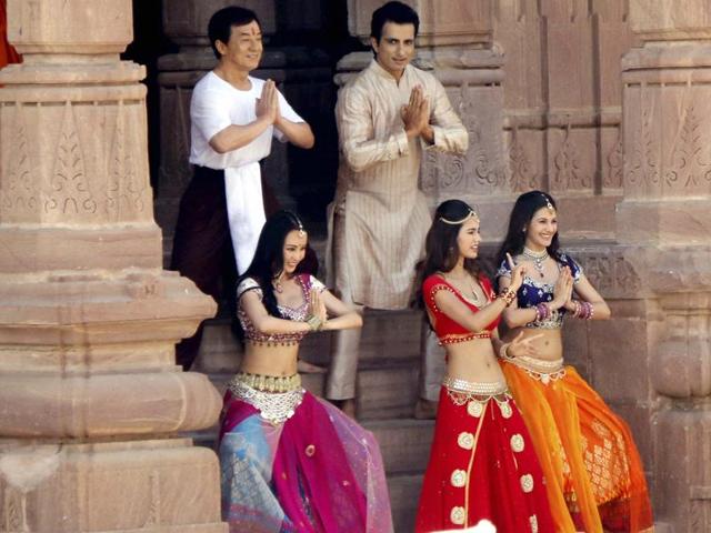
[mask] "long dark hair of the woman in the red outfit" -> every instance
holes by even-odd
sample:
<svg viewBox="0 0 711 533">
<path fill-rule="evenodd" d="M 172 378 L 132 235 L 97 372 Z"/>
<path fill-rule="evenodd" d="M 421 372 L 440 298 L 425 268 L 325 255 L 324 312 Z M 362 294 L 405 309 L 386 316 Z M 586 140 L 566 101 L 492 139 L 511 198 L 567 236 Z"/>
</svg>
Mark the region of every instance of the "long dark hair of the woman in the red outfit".
<svg viewBox="0 0 711 533">
<path fill-rule="evenodd" d="M 422 300 L 422 282 L 435 272 L 449 272 L 459 260 L 459 245 L 457 238 L 463 223 L 469 220 L 469 214 L 474 210 L 461 200 L 447 200 L 434 211 L 434 220 L 424 240 L 424 259 L 418 263 L 415 303 L 424 305 Z M 461 220 L 459 224 L 443 222 L 447 220 Z M 464 270 L 479 279 L 481 268 L 475 259 L 464 259 Z"/>
</svg>

